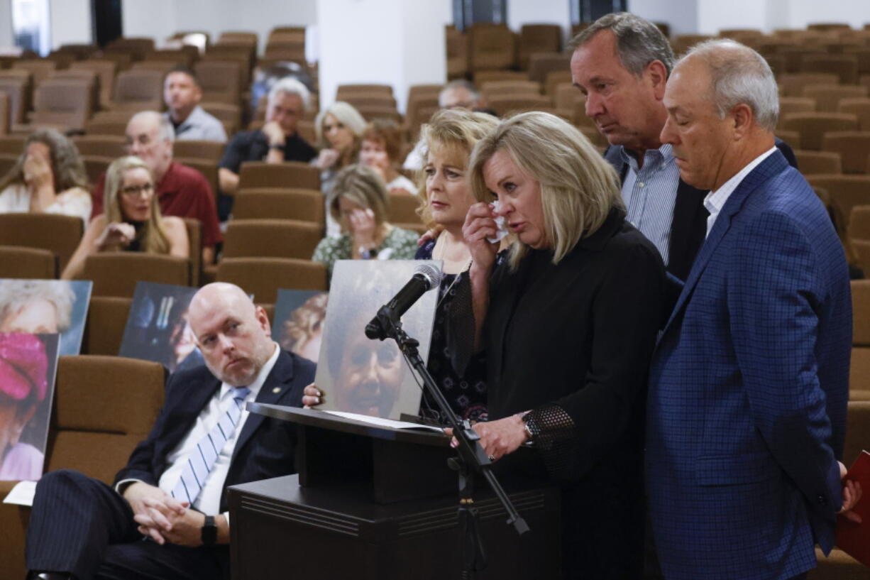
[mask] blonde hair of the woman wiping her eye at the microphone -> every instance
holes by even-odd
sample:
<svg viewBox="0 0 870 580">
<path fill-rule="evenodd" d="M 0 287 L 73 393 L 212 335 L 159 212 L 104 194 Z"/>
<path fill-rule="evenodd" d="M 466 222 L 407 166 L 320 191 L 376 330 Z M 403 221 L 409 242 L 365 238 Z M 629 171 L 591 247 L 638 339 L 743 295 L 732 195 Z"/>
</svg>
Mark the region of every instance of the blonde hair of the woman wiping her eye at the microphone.
<svg viewBox="0 0 870 580">
<path fill-rule="evenodd" d="M 507 152 L 521 172 L 539 182 L 544 233 L 553 251 L 553 264 L 559 264 L 580 238 L 595 233 L 613 207 L 624 207 L 616 171 L 583 133 L 555 115 L 521 113 L 502 121 L 478 141 L 469 162 L 469 179 L 478 201 L 493 199 L 483 172 L 486 161 L 499 151 Z M 527 250 L 519 239 L 512 241 L 512 270 Z"/>
</svg>

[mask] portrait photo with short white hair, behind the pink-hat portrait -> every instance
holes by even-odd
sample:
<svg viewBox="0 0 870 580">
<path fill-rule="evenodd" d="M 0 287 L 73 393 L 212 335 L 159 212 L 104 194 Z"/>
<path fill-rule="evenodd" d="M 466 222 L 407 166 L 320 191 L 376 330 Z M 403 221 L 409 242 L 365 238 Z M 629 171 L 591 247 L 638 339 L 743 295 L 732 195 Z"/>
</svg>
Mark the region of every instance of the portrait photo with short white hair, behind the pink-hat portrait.
<svg viewBox="0 0 870 580">
<path fill-rule="evenodd" d="M 0 333 L 60 334 L 60 354 L 78 354 L 90 280 L 0 280 Z"/>
</svg>

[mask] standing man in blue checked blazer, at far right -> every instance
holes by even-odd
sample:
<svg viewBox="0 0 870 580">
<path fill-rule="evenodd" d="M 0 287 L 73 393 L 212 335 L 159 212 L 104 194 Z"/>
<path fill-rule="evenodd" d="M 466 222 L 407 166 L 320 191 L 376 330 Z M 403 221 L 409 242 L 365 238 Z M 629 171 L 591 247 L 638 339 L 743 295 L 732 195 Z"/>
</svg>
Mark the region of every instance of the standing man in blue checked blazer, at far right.
<svg viewBox="0 0 870 580">
<path fill-rule="evenodd" d="M 770 67 L 732 41 L 674 68 L 661 133 L 709 190 L 706 241 L 659 341 L 647 486 L 668 580 L 786 580 L 826 553 L 840 487 L 852 310 L 825 208 L 773 145 Z M 851 516 L 851 514 L 850 514 Z"/>
</svg>

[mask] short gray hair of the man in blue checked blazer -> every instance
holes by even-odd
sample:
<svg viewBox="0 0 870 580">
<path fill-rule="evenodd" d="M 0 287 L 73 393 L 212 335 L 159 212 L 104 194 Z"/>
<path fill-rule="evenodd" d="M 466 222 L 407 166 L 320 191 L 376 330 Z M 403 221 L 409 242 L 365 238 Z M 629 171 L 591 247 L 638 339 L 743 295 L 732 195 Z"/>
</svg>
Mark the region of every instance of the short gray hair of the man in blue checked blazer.
<svg viewBox="0 0 870 580">
<path fill-rule="evenodd" d="M 719 118 L 735 106 L 748 105 L 756 125 L 769 132 L 780 116 L 780 94 L 770 65 L 758 52 L 733 40 L 715 39 L 695 44 L 678 65 L 698 57 L 710 71 L 713 105 Z"/>
</svg>

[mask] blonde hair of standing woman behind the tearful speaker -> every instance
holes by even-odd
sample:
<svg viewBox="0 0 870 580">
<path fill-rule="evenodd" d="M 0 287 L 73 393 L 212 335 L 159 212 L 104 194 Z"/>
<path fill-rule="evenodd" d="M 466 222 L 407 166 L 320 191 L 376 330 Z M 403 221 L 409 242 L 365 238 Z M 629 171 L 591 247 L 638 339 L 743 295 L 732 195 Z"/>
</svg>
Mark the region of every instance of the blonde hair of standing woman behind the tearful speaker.
<svg viewBox="0 0 870 580">
<path fill-rule="evenodd" d="M 499 126 L 499 119 L 486 113 L 465 111 L 464 109 L 442 109 L 437 111 L 429 122 L 420 128 L 420 142 L 423 144 L 423 165 L 432 151 L 441 151 L 452 156 L 452 162 L 465 170 L 474 145 L 487 133 Z M 426 193 L 425 173 L 418 176 L 418 194 L 421 205 L 417 208 L 420 219 L 427 229 L 438 224 L 432 218 L 429 198 Z"/>
</svg>

